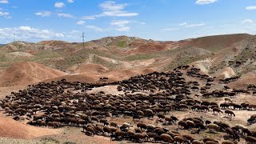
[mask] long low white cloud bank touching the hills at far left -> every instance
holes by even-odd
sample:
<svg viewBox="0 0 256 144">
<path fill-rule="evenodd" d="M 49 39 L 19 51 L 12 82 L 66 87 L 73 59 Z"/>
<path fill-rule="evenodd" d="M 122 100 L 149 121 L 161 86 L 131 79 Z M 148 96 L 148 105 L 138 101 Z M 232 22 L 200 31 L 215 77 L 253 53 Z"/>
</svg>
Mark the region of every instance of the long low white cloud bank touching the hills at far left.
<svg viewBox="0 0 256 144">
<path fill-rule="evenodd" d="M 0 41 L 11 42 L 13 34 L 16 34 L 18 41 L 34 42 L 65 37 L 64 34 L 52 30 L 40 30 L 30 26 L 0 28 Z"/>
</svg>

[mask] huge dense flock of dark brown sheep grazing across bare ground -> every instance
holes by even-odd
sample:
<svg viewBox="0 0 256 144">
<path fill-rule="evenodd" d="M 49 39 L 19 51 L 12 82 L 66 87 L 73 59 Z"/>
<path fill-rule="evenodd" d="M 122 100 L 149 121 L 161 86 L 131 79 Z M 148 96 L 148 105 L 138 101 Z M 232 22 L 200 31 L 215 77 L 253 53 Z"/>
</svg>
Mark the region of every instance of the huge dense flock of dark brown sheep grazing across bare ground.
<svg viewBox="0 0 256 144">
<path fill-rule="evenodd" d="M 186 76 L 200 78 L 199 82 L 186 82 Z M 101 78 L 107 81 L 108 78 Z M 230 82 L 238 78 L 225 80 Z M 127 80 L 110 83 L 40 82 L 28 86 L 25 90 L 12 92 L 0 101 L 5 114 L 15 120 L 25 117 L 32 126 L 81 126 L 88 135 L 106 135 L 111 140 L 130 142 L 176 142 L 193 144 L 214 144 L 216 139 L 203 137 L 195 139 L 194 134 L 226 133 L 228 140 L 223 144 L 240 142 L 256 142 L 256 131 L 236 124 L 230 126 L 226 122 L 206 118 L 182 118 L 173 115 L 173 111 L 192 111 L 192 113 L 210 113 L 216 117 L 234 118 L 234 110 L 256 110 L 250 102 L 235 103 L 234 97 L 239 94 L 255 94 L 256 86 L 249 85 L 247 90 L 231 90 L 224 86 L 223 90 L 210 91 L 214 78 L 200 74 L 200 69 L 190 66 L 178 66 L 170 72 L 154 72 L 138 75 Z M 118 86 L 124 94 L 88 94 L 89 90 L 101 86 Z M 201 84 L 202 85 L 202 84 Z M 200 101 L 199 98 L 222 98 L 224 102 Z M 132 118 L 136 123 L 124 122 L 118 125 L 114 118 Z M 147 118 L 159 125 L 140 122 Z M 111 120 L 112 119 L 112 120 Z M 247 120 L 248 125 L 256 122 L 256 114 Z M 166 126 L 177 126 L 174 130 Z M 182 134 L 179 130 L 187 133 Z"/>
</svg>

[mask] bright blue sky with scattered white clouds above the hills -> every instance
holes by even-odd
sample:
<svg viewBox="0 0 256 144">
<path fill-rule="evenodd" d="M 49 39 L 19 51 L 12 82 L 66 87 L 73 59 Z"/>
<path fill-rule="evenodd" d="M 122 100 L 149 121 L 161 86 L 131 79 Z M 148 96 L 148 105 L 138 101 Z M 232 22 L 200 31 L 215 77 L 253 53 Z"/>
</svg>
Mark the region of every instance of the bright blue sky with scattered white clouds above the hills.
<svg viewBox="0 0 256 144">
<path fill-rule="evenodd" d="M 256 34 L 255 0 L 0 0 L 0 43 Z"/>
</svg>

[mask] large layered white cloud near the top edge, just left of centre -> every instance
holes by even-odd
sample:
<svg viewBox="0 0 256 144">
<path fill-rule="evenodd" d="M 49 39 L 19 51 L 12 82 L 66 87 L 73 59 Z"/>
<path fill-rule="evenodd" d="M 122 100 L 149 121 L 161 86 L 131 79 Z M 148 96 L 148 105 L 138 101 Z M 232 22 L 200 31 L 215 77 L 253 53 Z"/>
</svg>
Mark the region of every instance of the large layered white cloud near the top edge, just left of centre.
<svg viewBox="0 0 256 144">
<path fill-rule="evenodd" d="M 116 4 L 113 1 L 102 2 L 99 5 L 102 8 L 102 14 L 96 14 L 91 16 L 82 17 L 82 19 L 90 18 L 95 19 L 99 17 L 134 17 L 138 13 L 130 13 L 125 11 L 127 4 Z"/>
</svg>

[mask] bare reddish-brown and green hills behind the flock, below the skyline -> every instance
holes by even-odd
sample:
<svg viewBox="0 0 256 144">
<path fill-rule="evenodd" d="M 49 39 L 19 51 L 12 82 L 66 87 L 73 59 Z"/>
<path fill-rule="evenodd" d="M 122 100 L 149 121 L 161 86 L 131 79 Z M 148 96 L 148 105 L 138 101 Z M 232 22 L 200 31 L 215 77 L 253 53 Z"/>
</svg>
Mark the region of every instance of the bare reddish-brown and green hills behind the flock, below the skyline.
<svg viewBox="0 0 256 144">
<path fill-rule="evenodd" d="M 17 62 L 39 63 L 65 72 L 69 78 L 94 80 L 110 75 L 119 80 L 146 71 L 173 70 L 180 65 L 197 66 L 218 78 L 256 73 L 256 37 L 250 34 L 178 42 L 119 36 L 86 42 L 85 47 L 62 41 L 12 42 L 1 49 L 0 74 Z"/>
</svg>

